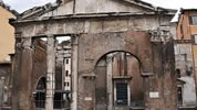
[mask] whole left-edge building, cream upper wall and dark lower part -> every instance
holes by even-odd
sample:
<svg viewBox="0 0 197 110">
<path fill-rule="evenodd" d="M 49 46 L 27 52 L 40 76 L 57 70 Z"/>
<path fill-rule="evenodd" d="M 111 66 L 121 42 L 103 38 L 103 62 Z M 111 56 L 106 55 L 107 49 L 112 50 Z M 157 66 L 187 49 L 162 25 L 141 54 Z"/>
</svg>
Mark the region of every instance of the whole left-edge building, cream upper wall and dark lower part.
<svg viewBox="0 0 197 110">
<path fill-rule="evenodd" d="M 11 68 L 14 53 L 14 28 L 9 19 L 15 19 L 15 12 L 0 1 L 0 109 L 9 108 L 11 100 Z"/>
</svg>

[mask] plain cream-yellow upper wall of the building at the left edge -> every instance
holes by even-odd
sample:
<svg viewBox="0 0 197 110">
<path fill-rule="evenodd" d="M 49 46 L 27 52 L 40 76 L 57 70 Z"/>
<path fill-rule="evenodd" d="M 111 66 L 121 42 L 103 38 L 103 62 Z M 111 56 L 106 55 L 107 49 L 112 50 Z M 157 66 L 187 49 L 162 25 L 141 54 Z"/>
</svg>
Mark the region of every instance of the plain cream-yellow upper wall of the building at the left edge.
<svg viewBox="0 0 197 110">
<path fill-rule="evenodd" d="M 9 54 L 14 53 L 14 28 L 9 24 L 9 19 L 14 19 L 15 14 L 6 6 L 0 2 L 0 62 L 10 62 Z"/>
</svg>

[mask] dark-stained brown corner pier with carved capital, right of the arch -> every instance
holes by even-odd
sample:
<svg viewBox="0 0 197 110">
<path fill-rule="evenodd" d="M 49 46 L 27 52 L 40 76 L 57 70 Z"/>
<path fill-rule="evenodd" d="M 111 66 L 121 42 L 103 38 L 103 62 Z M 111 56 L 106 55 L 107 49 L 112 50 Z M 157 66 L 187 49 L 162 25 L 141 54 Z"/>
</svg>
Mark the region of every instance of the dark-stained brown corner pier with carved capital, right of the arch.
<svg viewBox="0 0 197 110">
<path fill-rule="evenodd" d="M 147 110 L 177 110 L 174 43 L 168 30 L 158 29 L 152 33 L 153 69 L 149 77 Z"/>
</svg>

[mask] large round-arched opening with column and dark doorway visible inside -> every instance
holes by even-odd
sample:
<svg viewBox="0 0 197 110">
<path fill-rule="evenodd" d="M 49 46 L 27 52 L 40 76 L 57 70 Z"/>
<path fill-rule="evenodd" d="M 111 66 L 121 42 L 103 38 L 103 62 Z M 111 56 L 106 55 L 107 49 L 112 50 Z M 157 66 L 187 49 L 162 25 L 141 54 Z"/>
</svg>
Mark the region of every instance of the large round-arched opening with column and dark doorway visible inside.
<svg viewBox="0 0 197 110">
<path fill-rule="evenodd" d="M 96 110 L 143 108 L 141 62 L 127 52 L 111 52 L 96 66 Z"/>
</svg>

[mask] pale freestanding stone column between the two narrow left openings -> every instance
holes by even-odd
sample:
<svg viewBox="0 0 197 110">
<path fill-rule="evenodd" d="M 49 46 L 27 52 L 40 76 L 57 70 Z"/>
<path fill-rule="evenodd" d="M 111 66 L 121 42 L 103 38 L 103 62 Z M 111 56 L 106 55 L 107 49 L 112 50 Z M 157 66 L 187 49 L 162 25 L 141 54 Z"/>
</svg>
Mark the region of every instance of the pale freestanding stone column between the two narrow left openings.
<svg viewBox="0 0 197 110">
<path fill-rule="evenodd" d="M 45 110 L 53 110 L 53 95 L 54 95 L 54 69 L 55 69 L 55 50 L 54 37 L 48 36 L 46 46 L 46 96 L 45 96 Z"/>
</svg>

